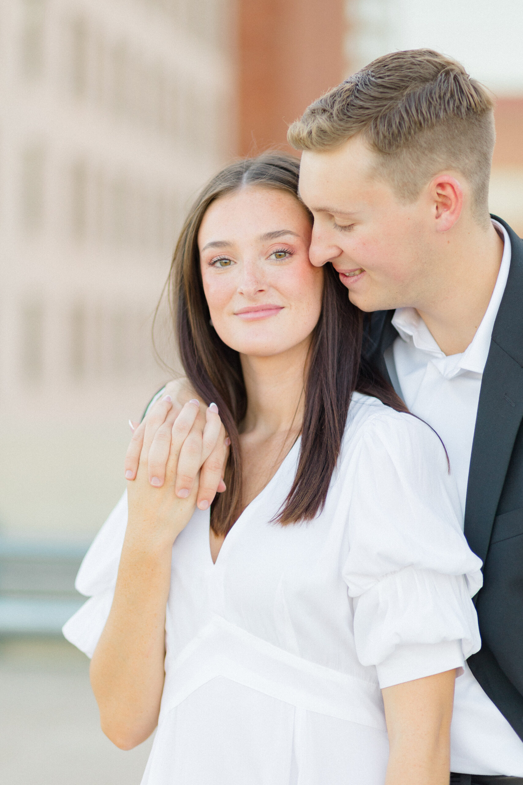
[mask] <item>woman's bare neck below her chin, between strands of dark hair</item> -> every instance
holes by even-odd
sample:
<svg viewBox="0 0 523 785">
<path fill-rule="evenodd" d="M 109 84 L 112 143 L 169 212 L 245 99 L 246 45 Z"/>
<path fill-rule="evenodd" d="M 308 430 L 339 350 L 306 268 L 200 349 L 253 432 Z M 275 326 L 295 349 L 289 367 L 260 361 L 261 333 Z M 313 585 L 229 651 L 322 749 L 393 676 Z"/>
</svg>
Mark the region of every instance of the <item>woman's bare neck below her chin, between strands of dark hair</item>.
<svg viewBox="0 0 523 785">
<path fill-rule="evenodd" d="M 271 438 L 297 431 L 303 422 L 305 367 L 311 341 L 271 357 L 241 356 L 247 413 L 242 433 Z"/>
</svg>

